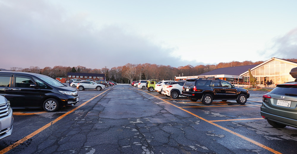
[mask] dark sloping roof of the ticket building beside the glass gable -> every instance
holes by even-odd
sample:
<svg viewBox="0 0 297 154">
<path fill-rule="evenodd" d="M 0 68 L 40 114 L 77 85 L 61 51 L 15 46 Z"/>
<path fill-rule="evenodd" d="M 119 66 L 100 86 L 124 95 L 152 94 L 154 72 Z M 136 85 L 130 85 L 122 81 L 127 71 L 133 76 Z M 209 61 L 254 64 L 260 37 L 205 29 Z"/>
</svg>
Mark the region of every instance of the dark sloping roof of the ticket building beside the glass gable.
<svg viewBox="0 0 297 154">
<path fill-rule="evenodd" d="M 252 69 L 260 64 L 254 64 L 254 65 L 244 65 L 244 66 L 234 66 L 234 67 L 228 67 L 228 68 L 218 68 L 206 73 L 202 73 L 199 76 L 209 76 L 209 75 L 234 75 L 239 76 L 240 74 L 248 71 L 249 69 Z"/>
</svg>

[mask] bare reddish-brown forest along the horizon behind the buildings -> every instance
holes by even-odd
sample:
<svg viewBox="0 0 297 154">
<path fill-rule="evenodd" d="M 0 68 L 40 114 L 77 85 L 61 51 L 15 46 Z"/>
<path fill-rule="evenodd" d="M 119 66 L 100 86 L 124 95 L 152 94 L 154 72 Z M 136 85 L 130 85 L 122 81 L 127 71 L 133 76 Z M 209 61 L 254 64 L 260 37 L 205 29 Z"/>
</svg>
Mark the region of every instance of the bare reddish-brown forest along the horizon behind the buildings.
<svg viewBox="0 0 297 154">
<path fill-rule="evenodd" d="M 297 62 L 297 59 L 284 59 L 288 61 Z M 254 65 L 261 64 L 264 61 L 232 61 L 232 62 L 220 62 L 217 65 L 186 65 L 178 68 L 170 65 L 157 65 L 157 64 L 126 64 L 124 66 L 118 66 L 113 68 L 101 68 L 91 69 L 84 66 L 67 67 L 67 66 L 55 66 L 39 68 L 38 66 L 31 66 L 30 68 L 10 68 L 11 71 L 31 72 L 50 76 L 52 78 L 66 78 L 68 72 L 80 72 L 80 73 L 100 73 L 106 74 L 106 80 L 113 80 L 117 83 L 131 83 L 135 80 L 174 80 L 174 76 L 197 76 L 202 73 L 215 70 L 217 68 Z"/>
</svg>

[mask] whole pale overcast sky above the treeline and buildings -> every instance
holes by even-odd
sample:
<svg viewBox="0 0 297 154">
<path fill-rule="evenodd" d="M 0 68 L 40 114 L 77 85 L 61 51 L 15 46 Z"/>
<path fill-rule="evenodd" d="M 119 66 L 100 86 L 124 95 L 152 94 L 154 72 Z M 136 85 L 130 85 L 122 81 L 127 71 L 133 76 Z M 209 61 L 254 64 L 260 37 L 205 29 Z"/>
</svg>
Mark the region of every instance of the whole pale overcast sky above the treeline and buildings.
<svg viewBox="0 0 297 154">
<path fill-rule="evenodd" d="M 297 58 L 296 6 L 296 0 L 0 0 L 0 68 Z"/>
</svg>

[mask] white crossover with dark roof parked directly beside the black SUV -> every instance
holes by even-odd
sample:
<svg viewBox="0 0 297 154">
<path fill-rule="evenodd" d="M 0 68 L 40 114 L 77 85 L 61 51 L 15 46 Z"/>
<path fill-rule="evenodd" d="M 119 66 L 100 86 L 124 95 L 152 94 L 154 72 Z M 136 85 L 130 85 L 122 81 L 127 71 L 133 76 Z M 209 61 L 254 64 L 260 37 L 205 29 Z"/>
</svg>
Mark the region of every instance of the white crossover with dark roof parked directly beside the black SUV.
<svg viewBox="0 0 297 154">
<path fill-rule="evenodd" d="M 185 83 L 184 81 L 183 82 L 168 82 L 168 84 L 163 85 L 161 94 L 163 94 L 167 97 L 176 99 L 181 94 L 181 91 L 183 90 L 184 83 Z"/>
</svg>

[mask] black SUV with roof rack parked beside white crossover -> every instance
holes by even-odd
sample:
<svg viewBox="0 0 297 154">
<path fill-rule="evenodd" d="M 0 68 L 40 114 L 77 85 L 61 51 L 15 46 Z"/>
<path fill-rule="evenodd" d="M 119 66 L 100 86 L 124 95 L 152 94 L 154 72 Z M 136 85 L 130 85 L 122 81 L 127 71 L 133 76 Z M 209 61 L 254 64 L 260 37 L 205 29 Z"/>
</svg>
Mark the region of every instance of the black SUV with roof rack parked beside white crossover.
<svg viewBox="0 0 297 154">
<path fill-rule="evenodd" d="M 204 105 L 211 105 L 213 100 L 236 100 L 238 104 L 245 104 L 249 98 L 248 90 L 235 88 L 228 81 L 217 78 L 187 79 L 182 95 L 192 102 L 200 100 Z"/>
</svg>

